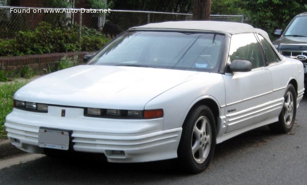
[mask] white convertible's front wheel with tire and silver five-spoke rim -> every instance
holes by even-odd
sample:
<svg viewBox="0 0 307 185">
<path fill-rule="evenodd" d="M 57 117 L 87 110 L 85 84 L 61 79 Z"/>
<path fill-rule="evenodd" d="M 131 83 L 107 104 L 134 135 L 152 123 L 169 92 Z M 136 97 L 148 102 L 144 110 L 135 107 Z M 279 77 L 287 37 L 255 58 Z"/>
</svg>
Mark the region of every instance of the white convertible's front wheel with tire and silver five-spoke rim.
<svg viewBox="0 0 307 185">
<path fill-rule="evenodd" d="M 210 108 L 205 105 L 192 108 L 182 129 L 178 165 L 185 172 L 201 173 L 208 167 L 216 145 L 215 120 Z"/>
</svg>

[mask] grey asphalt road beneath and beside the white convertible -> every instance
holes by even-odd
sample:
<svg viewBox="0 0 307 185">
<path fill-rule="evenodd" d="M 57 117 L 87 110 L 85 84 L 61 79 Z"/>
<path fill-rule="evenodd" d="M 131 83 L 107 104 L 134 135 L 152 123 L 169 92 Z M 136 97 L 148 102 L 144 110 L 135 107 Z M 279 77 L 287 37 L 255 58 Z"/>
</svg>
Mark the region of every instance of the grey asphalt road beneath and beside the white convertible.
<svg viewBox="0 0 307 185">
<path fill-rule="evenodd" d="M 307 184 L 306 112 L 304 98 L 289 134 L 261 127 L 217 145 L 211 165 L 197 175 L 180 173 L 172 160 L 109 164 L 97 156 L 42 156 L 23 163 L 21 156 L 0 168 L 0 184 Z"/>
</svg>

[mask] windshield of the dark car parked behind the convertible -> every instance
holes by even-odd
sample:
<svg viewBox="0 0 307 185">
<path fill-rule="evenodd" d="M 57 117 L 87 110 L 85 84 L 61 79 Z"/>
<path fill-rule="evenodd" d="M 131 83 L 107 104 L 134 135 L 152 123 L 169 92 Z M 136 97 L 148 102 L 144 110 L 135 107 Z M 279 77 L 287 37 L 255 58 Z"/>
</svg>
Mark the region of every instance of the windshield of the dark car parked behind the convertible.
<svg viewBox="0 0 307 185">
<path fill-rule="evenodd" d="M 285 31 L 284 36 L 307 37 L 307 16 L 297 16 Z"/>
</svg>

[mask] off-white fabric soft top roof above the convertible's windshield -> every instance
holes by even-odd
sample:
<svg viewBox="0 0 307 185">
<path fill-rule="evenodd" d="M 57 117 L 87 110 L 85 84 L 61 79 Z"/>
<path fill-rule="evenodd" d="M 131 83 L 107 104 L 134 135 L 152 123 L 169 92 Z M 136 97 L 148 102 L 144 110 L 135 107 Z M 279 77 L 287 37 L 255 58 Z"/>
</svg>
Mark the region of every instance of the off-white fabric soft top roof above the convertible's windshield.
<svg viewBox="0 0 307 185">
<path fill-rule="evenodd" d="M 229 34 L 238 33 L 258 33 L 251 25 L 238 22 L 224 21 L 169 21 L 151 23 L 144 26 L 134 27 L 133 29 L 175 29 L 175 30 L 200 30 L 217 31 Z"/>
</svg>

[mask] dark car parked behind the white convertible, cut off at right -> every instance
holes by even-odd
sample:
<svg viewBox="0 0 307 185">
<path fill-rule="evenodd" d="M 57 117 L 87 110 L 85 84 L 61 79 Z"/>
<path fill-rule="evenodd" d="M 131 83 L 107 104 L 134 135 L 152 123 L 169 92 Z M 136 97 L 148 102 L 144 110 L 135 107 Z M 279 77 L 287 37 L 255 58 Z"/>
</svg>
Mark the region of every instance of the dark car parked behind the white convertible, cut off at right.
<svg viewBox="0 0 307 185">
<path fill-rule="evenodd" d="M 273 41 L 274 47 L 286 57 L 300 60 L 304 64 L 305 81 L 307 80 L 307 12 L 295 16 L 286 30 L 275 30 L 280 38 Z M 305 83 L 306 84 L 306 83 Z"/>
</svg>

